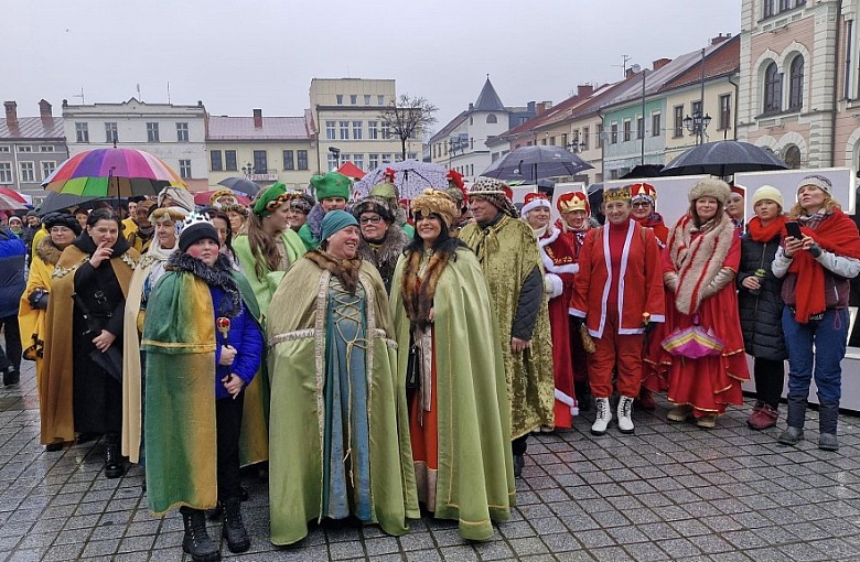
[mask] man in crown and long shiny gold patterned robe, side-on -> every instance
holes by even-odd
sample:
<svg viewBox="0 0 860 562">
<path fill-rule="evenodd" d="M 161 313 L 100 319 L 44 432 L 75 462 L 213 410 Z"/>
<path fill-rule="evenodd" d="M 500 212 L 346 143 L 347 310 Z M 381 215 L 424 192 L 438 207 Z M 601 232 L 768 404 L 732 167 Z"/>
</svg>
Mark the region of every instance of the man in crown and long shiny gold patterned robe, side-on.
<svg viewBox="0 0 860 562">
<path fill-rule="evenodd" d="M 510 398 L 514 474 L 525 465 L 528 434 L 553 426 L 555 379 L 540 252 L 531 227 L 518 220 L 510 188 L 479 177 L 469 192 L 475 221 L 460 239 L 477 255 L 498 316 Z"/>
</svg>

